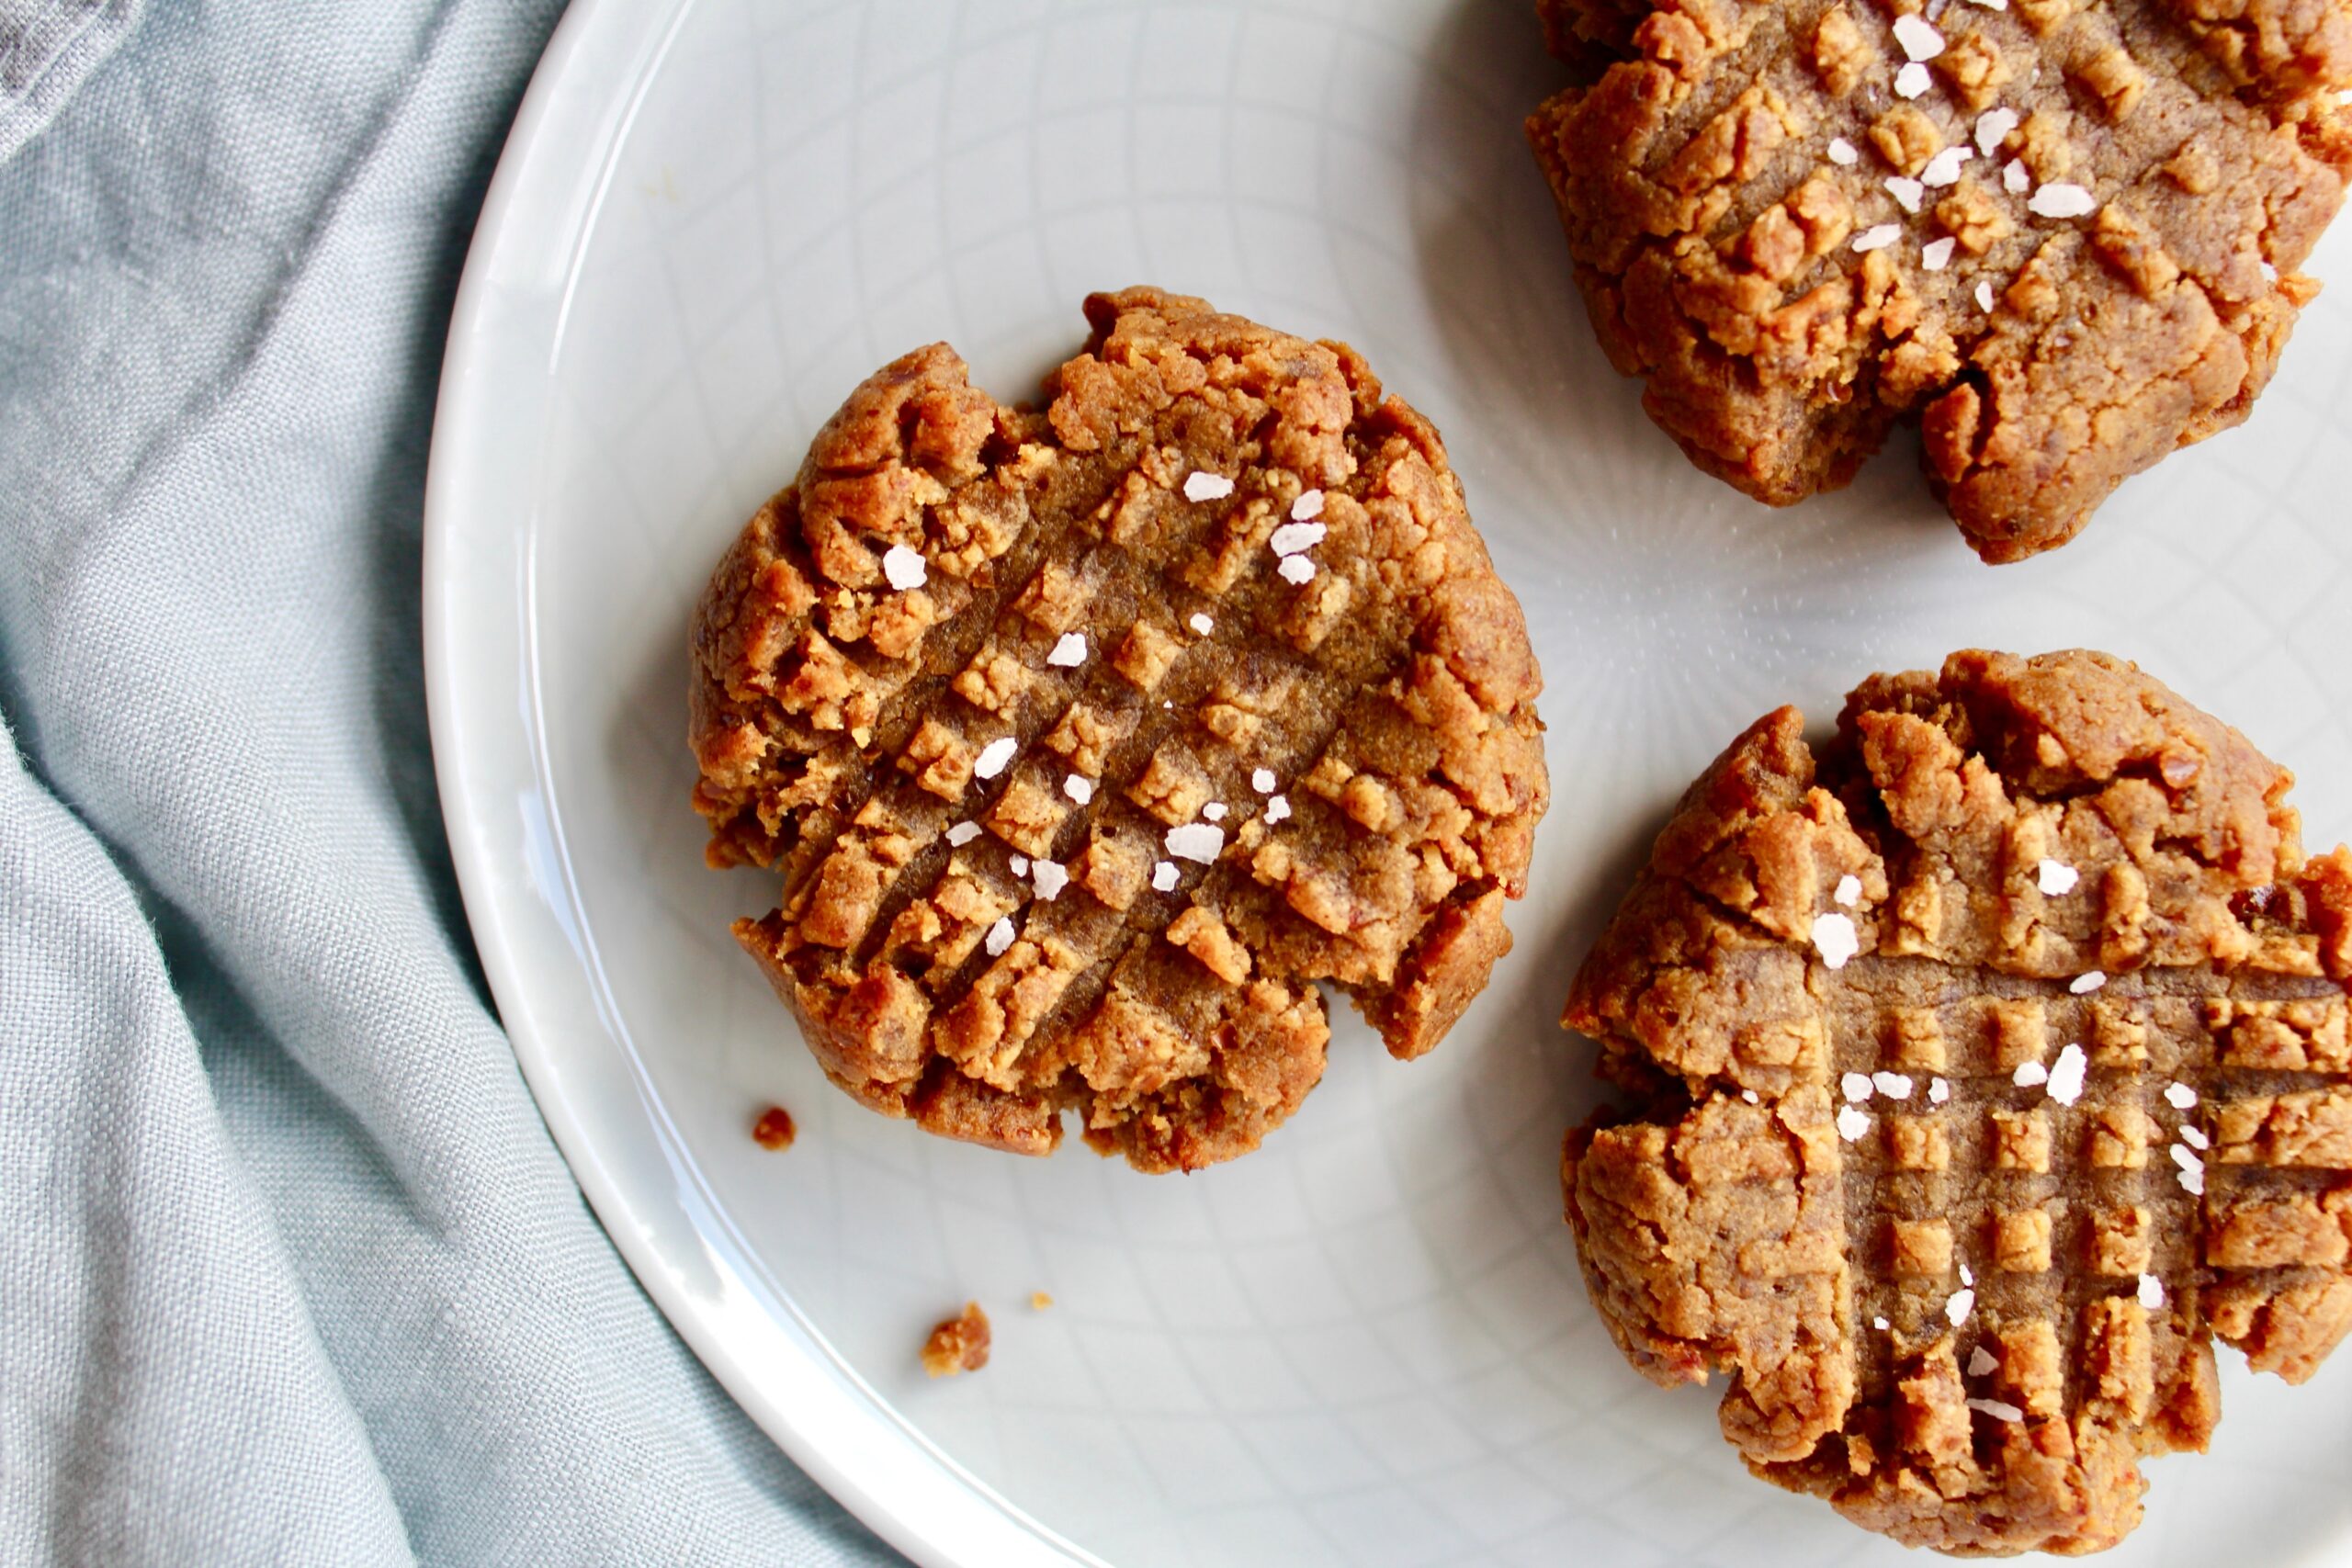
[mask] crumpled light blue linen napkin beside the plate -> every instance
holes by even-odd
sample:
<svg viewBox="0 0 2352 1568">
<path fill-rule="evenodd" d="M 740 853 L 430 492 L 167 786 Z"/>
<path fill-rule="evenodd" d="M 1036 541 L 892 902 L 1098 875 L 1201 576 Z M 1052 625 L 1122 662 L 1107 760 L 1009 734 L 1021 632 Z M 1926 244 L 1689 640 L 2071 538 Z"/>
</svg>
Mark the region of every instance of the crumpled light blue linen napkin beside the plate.
<svg viewBox="0 0 2352 1568">
<path fill-rule="evenodd" d="M 894 1561 L 555 1154 L 433 792 L 550 0 L 0 0 L 0 1563 Z"/>
</svg>

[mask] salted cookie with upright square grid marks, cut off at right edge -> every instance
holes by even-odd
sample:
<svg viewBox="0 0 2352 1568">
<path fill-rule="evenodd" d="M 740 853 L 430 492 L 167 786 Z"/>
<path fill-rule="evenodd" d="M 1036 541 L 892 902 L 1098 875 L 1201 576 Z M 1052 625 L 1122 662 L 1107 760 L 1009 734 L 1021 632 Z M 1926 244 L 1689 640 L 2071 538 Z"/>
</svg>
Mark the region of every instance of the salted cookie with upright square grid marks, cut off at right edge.
<svg viewBox="0 0 2352 1568">
<path fill-rule="evenodd" d="M 1872 675 L 1691 785 L 1564 1023 L 1585 1281 L 1748 1467 L 1905 1544 L 2096 1552 L 2204 1448 L 2211 1340 L 2352 1324 L 2352 853 L 2103 654 Z"/>
</svg>

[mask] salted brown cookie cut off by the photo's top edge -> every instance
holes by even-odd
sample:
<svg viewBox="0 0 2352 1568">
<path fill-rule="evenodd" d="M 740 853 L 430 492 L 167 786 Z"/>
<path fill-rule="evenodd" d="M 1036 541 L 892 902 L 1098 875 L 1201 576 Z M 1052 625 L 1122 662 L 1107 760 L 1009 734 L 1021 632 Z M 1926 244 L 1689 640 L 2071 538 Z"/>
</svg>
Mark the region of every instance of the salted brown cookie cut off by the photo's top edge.
<svg viewBox="0 0 2352 1568">
<path fill-rule="evenodd" d="M 1602 348 L 1788 505 L 1917 421 L 1987 562 L 2225 430 L 2319 284 L 2352 0 L 1538 0 Z"/>
</svg>

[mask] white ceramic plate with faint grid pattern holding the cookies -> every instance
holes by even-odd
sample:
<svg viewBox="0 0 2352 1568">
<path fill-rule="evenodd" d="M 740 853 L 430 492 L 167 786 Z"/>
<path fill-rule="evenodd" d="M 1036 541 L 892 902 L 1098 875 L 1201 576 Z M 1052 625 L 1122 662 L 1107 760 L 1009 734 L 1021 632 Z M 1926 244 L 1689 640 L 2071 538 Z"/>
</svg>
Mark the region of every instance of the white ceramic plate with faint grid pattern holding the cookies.
<svg viewBox="0 0 2352 1568">
<path fill-rule="evenodd" d="M 499 167 L 449 339 L 426 616 L 456 863 L 515 1051 L 647 1291 L 924 1563 L 1893 1563 L 1750 1481 L 1715 1394 L 1611 1349 L 1559 1222 L 1569 971 L 1663 809 L 1778 701 L 1947 649 L 2129 654 L 2352 835 L 2352 289 L 2239 433 L 2079 543 L 1980 567 L 1898 449 L 1769 512 L 1642 418 L 1571 296 L 1519 118 L 1522 0 L 588 0 Z M 2340 233 L 2321 275 L 2352 275 Z M 1143 1178 L 882 1121 L 823 1084 L 701 865 L 684 628 L 873 367 L 950 339 L 1000 395 L 1157 282 L 1345 336 L 1446 433 L 1529 609 L 1552 813 L 1517 952 L 1446 1046 L 1331 1072 L 1263 1152 Z M 2333 520 L 2333 522 L 2331 522 Z M 790 1154 L 748 1138 L 783 1100 Z M 1049 1291 L 1049 1312 L 1028 1307 Z M 922 1333 L 997 1321 L 974 1378 Z M 2352 1356 L 2225 1356 L 2204 1460 L 2114 1563 L 2343 1561 Z"/>
</svg>

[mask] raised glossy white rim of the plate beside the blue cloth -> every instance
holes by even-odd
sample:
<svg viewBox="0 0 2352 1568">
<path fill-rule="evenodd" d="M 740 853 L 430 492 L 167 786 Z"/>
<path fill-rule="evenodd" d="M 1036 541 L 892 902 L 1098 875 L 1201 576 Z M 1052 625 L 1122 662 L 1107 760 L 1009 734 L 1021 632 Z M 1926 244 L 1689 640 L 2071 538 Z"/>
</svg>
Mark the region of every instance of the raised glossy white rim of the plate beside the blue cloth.
<svg viewBox="0 0 2352 1568">
<path fill-rule="evenodd" d="M 628 1046 L 626 1032 L 614 1025 L 616 1013 L 609 1006 L 609 994 L 597 983 L 593 957 L 583 954 L 579 947 L 588 940 L 583 936 L 586 912 L 579 905 L 572 865 L 562 851 L 560 797 L 553 790 L 553 780 L 546 769 L 543 733 L 534 712 L 539 696 L 539 649 L 532 599 L 536 512 L 524 510 L 520 520 L 510 522 L 506 534 L 499 536 L 499 543 L 522 545 L 520 555 L 510 557 L 517 567 L 513 576 L 501 578 L 501 574 L 494 571 L 485 574 L 485 569 L 468 557 L 468 545 L 480 543 L 480 538 L 468 538 L 468 527 L 475 524 L 475 508 L 468 505 L 468 496 L 482 484 L 482 463 L 494 461 L 477 451 L 477 421 L 485 416 L 485 402 L 489 402 L 496 390 L 503 390 L 494 348 L 501 343 L 501 336 L 513 334 L 510 327 L 501 327 L 496 320 L 501 303 L 499 266 L 506 254 L 517 247 L 517 209 L 532 195 L 529 183 L 534 176 L 546 176 L 546 162 L 562 158 L 562 150 L 553 143 L 560 136 L 557 120 L 562 110 L 574 108 L 574 103 L 567 103 L 567 94 L 581 92 L 574 80 L 576 73 L 588 71 L 590 63 L 602 63 L 590 61 L 590 52 L 609 45 L 612 35 L 630 21 L 640 24 L 640 35 L 659 33 L 661 42 L 652 49 L 652 54 L 644 56 L 640 49 L 640 56 L 630 61 L 630 75 L 619 78 L 619 92 L 607 94 L 602 85 L 593 85 L 581 92 L 586 101 L 619 96 L 628 99 L 628 106 L 616 125 L 602 127 L 604 134 L 586 155 L 576 155 L 576 172 L 588 174 L 595 183 L 595 195 L 588 200 L 586 212 L 579 214 L 576 228 L 572 233 L 560 233 L 553 240 L 541 240 L 541 249 L 569 247 L 569 261 L 564 263 L 562 277 L 564 308 L 557 310 L 555 331 L 548 341 L 548 346 L 560 350 L 569 324 L 569 287 L 576 280 L 586 240 L 593 235 L 597 212 L 602 209 L 602 193 L 612 181 L 612 169 L 621 146 L 626 143 L 630 122 L 635 120 L 635 103 L 659 73 L 668 42 L 675 40 L 699 2 L 701 0 L 654 0 L 654 5 L 644 5 L 642 0 L 574 0 L 567 7 L 564 16 L 548 38 L 539 63 L 532 68 L 529 85 L 524 87 L 515 118 L 499 148 L 499 160 L 489 186 L 485 188 L 473 237 L 466 247 L 466 263 L 459 275 L 449 313 L 449 331 L 442 343 L 440 386 L 433 400 L 433 435 L 426 454 L 421 562 L 426 724 L 433 745 L 435 792 L 442 809 L 442 825 L 449 837 L 459 898 L 466 910 L 466 924 L 470 929 L 475 952 L 482 961 L 485 980 L 499 1009 L 501 1030 L 515 1051 L 515 1063 L 522 1072 L 524 1086 L 532 1093 L 532 1103 L 536 1105 L 548 1135 L 555 1140 L 555 1150 L 562 1157 L 564 1168 L 579 1185 L 581 1197 L 588 1199 L 597 1225 L 628 1265 L 637 1288 L 642 1288 L 652 1305 L 661 1312 L 670 1333 L 675 1333 L 687 1349 L 694 1352 L 696 1361 L 703 1363 L 710 1378 L 717 1380 L 724 1394 L 762 1429 L 762 1434 L 863 1526 L 924 1568 L 995 1568 L 997 1563 L 1108 1568 L 1103 1559 L 1077 1547 L 1075 1542 L 1068 1542 L 1051 1526 L 1030 1516 L 1016 1502 L 946 1455 L 936 1443 L 927 1441 L 906 1420 L 906 1415 L 891 1406 L 891 1401 L 875 1392 L 837 1356 L 837 1352 L 833 1352 L 830 1342 L 826 1342 L 814 1324 L 800 1314 L 800 1307 L 790 1302 L 781 1286 L 762 1281 L 762 1272 L 753 1272 L 750 1276 L 739 1276 L 736 1284 L 750 1288 L 753 1293 L 760 1293 L 762 1284 L 774 1291 L 779 1298 L 774 1305 L 783 1307 L 790 1319 L 788 1324 L 779 1321 L 776 1328 L 786 1331 L 788 1338 L 797 1342 L 795 1349 L 804 1359 L 807 1371 L 818 1373 L 818 1378 L 830 1385 L 830 1392 L 840 1394 L 835 1408 L 823 1418 L 795 1410 L 779 1401 L 774 1389 L 764 1385 L 748 1359 L 739 1354 L 739 1347 L 729 1340 L 727 1326 L 713 1302 L 696 1298 L 682 1286 L 673 1269 L 663 1267 L 666 1260 L 661 1255 L 661 1241 L 644 1222 L 640 1197 L 633 1194 L 604 1161 L 597 1133 L 588 1124 L 588 1107 L 583 1107 L 564 1084 L 564 1046 L 553 1041 L 539 1027 L 534 985 L 541 985 L 543 980 L 527 978 L 532 973 L 532 964 L 520 952 L 520 929 L 527 922 L 550 922 L 557 926 L 555 936 L 572 945 L 574 954 L 583 961 L 590 1001 L 607 1020 L 604 1044 L 616 1048 L 623 1058 L 640 1100 L 659 1103 L 649 1093 L 642 1063 Z M 593 82 L 595 78 L 588 80 Z M 548 369 L 553 369 L 553 360 Z M 555 381 L 546 378 L 546 386 L 555 386 Z M 524 451 L 524 458 L 534 456 L 529 442 L 517 449 Z M 513 748 L 520 750 L 520 759 L 527 764 L 522 776 L 532 785 L 532 804 L 541 811 L 541 827 L 550 835 L 553 867 L 562 877 L 562 898 L 569 905 L 574 922 L 572 929 L 562 929 L 564 912 L 555 907 L 553 893 L 546 886 L 536 886 L 543 905 L 541 910 L 517 907 L 515 891 L 520 889 L 508 886 L 515 879 L 501 875 L 510 867 L 501 865 L 492 818 L 475 799 L 480 773 L 485 769 L 496 771 L 501 764 L 513 762 L 487 759 L 485 750 L 489 741 L 477 738 L 475 729 L 482 717 L 489 717 L 480 715 L 477 708 L 506 701 L 508 689 L 496 684 L 496 696 L 489 696 L 492 682 L 482 682 L 480 668 L 466 658 L 470 651 L 477 651 L 470 646 L 470 639 L 482 637 L 480 628 L 468 628 L 466 609 L 477 607 L 482 595 L 501 588 L 508 592 L 520 590 L 510 599 L 515 616 L 513 625 L 501 623 L 496 632 L 492 632 L 510 635 L 515 651 L 522 656 L 520 672 L 522 696 L 527 701 L 527 722 L 513 726 Z M 682 635 L 680 646 L 684 646 Z M 508 712 L 508 717 L 513 715 Z M 508 844 L 517 842 L 520 839 L 508 839 Z M 513 856 L 513 849 L 508 849 L 508 856 Z M 529 870 L 524 870 L 524 879 L 527 877 Z M 541 936 L 546 936 L 546 931 L 541 931 Z M 581 1046 L 574 1044 L 569 1048 L 579 1051 Z M 663 1133 L 663 1117 L 647 1112 L 644 1121 L 654 1133 L 659 1152 L 670 1154 L 673 1168 L 682 1173 L 682 1192 L 684 1175 L 696 1173 L 684 1138 Z M 722 1213 L 708 1185 L 696 1185 L 710 1211 Z M 694 1237 L 706 1246 L 706 1251 L 715 1244 L 724 1244 L 724 1237 L 713 1237 L 710 1227 L 701 1222 L 694 1225 Z M 724 1260 L 706 1258 L 706 1262 Z M 769 1314 L 771 1321 L 776 1319 L 769 1305 L 757 1305 L 757 1309 Z M 828 1427 L 828 1422 L 842 1415 L 844 1406 L 870 1418 L 870 1429 L 840 1432 Z M 880 1443 L 873 1441 L 877 1436 L 882 1439 Z"/>
</svg>

